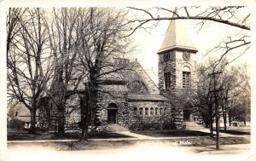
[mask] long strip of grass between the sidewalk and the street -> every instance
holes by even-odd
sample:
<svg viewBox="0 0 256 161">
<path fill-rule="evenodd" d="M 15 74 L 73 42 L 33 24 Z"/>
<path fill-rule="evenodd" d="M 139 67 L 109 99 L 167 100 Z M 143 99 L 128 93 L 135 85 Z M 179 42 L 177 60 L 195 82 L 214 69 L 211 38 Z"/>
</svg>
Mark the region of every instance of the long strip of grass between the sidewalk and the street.
<svg viewBox="0 0 256 161">
<path fill-rule="evenodd" d="M 180 146 L 180 147 L 206 147 L 214 146 L 215 139 L 210 137 L 198 138 L 175 138 L 165 140 L 126 140 L 126 141 L 65 141 L 65 142 L 32 142 L 32 143 L 8 143 L 8 148 L 15 147 L 44 147 L 52 148 L 56 151 L 70 151 L 70 150 L 106 150 L 115 148 L 124 148 L 137 146 L 139 144 L 157 145 L 162 144 L 166 146 Z M 219 139 L 220 145 L 234 145 L 234 144 L 248 144 L 249 137 L 225 137 Z"/>
</svg>

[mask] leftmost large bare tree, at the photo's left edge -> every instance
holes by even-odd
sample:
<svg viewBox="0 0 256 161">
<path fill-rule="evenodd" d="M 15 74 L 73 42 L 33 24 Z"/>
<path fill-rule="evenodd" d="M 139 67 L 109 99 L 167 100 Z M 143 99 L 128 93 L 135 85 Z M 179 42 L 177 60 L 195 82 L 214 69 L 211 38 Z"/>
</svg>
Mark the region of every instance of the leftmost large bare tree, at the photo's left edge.
<svg viewBox="0 0 256 161">
<path fill-rule="evenodd" d="M 8 24 L 15 25 L 8 25 L 8 95 L 29 109 L 32 129 L 44 96 L 43 82 L 48 81 L 50 71 L 47 67 L 48 36 L 41 15 L 41 9 L 9 9 L 9 16 L 15 16 L 15 20 L 9 19 Z M 40 71 L 43 64 L 46 66 L 44 73 Z"/>
</svg>

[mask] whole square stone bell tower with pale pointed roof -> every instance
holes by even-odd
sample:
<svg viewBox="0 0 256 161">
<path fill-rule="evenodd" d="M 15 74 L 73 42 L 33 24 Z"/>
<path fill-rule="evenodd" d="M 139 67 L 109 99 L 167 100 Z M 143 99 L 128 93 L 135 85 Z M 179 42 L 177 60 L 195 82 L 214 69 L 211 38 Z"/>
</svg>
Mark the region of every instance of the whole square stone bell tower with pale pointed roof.
<svg viewBox="0 0 256 161">
<path fill-rule="evenodd" d="M 193 119 L 183 113 L 189 104 L 191 89 L 196 89 L 197 49 L 183 27 L 182 20 L 171 20 L 164 41 L 158 50 L 160 95 L 171 100 L 172 113 L 177 118 L 177 126 L 186 119 Z"/>
</svg>

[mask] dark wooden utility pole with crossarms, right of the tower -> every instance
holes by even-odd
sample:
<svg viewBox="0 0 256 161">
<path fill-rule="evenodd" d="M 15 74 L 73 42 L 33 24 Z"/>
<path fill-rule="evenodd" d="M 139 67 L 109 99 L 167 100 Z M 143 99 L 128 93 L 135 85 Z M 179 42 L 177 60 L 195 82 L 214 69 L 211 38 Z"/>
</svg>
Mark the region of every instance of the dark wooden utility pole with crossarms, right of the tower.
<svg viewBox="0 0 256 161">
<path fill-rule="evenodd" d="M 214 107 L 215 107 L 215 130 L 216 130 L 216 150 L 219 150 L 219 116 L 218 116 L 218 92 L 223 89 L 217 89 L 217 81 L 216 81 L 216 75 L 221 74 L 222 72 L 213 72 L 211 74 L 208 74 L 210 76 L 210 82 L 213 79 L 213 90 L 211 92 L 213 93 L 214 97 Z"/>
</svg>

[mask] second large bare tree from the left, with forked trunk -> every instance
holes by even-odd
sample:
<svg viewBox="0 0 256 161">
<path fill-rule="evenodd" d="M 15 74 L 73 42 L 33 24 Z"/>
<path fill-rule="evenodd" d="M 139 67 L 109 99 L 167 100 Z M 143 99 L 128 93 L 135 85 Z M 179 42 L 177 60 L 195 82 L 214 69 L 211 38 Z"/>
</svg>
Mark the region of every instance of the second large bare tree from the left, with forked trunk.
<svg viewBox="0 0 256 161">
<path fill-rule="evenodd" d="M 53 102 L 58 113 L 58 134 L 65 129 L 67 99 L 75 94 L 81 75 L 74 68 L 77 66 L 79 53 L 79 9 L 50 9 L 44 16 L 49 36 L 49 48 L 53 66 L 53 78 L 44 82 L 44 91 Z M 40 69 L 44 71 L 44 67 Z"/>
</svg>

